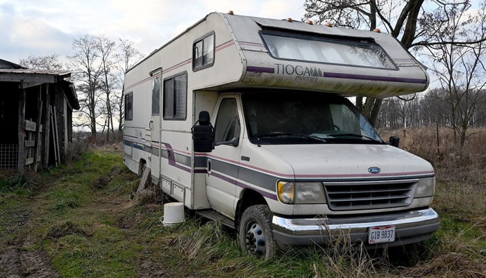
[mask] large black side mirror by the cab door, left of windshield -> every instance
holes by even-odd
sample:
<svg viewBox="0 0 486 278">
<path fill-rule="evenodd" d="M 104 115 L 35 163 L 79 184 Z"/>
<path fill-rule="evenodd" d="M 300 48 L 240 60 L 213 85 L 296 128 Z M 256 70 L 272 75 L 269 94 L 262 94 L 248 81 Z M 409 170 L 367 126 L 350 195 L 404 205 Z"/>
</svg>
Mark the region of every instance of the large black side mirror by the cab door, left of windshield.
<svg viewBox="0 0 486 278">
<path fill-rule="evenodd" d="M 208 111 L 199 113 L 199 120 L 191 131 L 194 152 L 212 152 L 215 149 L 215 129 L 210 123 Z"/>
</svg>

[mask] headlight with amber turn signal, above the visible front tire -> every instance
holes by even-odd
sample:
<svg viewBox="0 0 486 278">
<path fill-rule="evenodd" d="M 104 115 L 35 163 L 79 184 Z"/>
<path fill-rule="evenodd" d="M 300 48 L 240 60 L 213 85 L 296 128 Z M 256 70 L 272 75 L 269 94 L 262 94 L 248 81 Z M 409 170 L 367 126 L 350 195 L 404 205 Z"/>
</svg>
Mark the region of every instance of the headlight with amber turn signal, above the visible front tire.
<svg viewBox="0 0 486 278">
<path fill-rule="evenodd" d="M 284 204 L 324 204 L 324 186 L 320 182 L 278 181 L 278 199 Z"/>
</svg>

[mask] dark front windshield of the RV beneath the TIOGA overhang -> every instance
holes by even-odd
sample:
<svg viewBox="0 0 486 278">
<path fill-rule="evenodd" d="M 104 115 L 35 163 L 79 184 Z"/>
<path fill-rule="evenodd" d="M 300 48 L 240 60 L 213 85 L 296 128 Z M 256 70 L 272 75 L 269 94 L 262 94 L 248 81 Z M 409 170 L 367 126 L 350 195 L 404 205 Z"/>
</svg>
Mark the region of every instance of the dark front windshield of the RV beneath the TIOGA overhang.
<svg viewBox="0 0 486 278">
<path fill-rule="evenodd" d="M 383 144 L 373 126 L 344 97 L 246 93 L 246 129 L 255 144 Z"/>
</svg>

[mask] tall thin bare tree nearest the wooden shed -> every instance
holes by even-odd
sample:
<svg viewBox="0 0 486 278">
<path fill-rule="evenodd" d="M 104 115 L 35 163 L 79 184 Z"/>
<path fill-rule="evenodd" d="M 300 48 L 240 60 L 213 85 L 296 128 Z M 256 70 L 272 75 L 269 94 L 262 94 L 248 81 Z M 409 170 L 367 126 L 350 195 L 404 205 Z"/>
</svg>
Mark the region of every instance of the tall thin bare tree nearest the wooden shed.
<svg viewBox="0 0 486 278">
<path fill-rule="evenodd" d="M 90 129 L 92 138 L 97 138 L 97 117 L 100 100 L 100 79 L 102 69 L 97 38 L 93 35 L 85 35 L 73 41 L 74 55 L 69 56 L 71 66 L 76 69 L 73 78 L 76 83 L 79 103 L 81 105 L 81 126 Z"/>
</svg>

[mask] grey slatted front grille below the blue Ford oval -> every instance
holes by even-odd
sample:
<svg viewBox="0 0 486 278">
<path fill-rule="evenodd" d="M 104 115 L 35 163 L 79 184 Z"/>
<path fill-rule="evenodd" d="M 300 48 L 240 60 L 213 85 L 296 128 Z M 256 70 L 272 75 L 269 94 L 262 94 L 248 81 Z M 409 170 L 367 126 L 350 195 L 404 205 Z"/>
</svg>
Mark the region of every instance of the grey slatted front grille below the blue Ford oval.
<svg viewBox="0 0 486 278">
<path fill-rule="evenodd" d="M 324 182 L 333 211 L 394 208 L 412 204 L 418 179 L 393 181 Z"/>
</svg>

